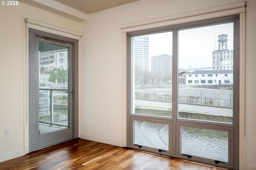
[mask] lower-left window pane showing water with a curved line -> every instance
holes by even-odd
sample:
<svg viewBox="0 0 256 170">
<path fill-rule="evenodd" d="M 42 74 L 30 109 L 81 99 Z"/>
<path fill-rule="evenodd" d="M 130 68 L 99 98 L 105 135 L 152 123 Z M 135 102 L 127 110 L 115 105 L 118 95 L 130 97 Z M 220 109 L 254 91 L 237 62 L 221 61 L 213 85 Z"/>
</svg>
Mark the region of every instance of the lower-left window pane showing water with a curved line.
<svg viewBox="0 0 256 170">
<path fill-rule="evenodd" d="M 133 121 L 134 144 L 169 150 L 169 125 Z"/>
</svg>

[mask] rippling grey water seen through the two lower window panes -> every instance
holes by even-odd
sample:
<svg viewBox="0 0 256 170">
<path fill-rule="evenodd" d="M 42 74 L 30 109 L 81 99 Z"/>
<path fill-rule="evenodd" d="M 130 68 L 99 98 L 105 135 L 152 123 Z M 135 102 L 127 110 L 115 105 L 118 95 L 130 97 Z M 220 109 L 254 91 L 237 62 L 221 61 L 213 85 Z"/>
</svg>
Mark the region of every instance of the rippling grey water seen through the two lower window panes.
<svg viewBox="0 0 256 170">
<path fill-rule="evenodd" d="M 134 144 L 168 150 L 169 125 L 134 121 Z M 228 162 L 228 132 L 181 127 L 181 152 Z"/>
</svg>

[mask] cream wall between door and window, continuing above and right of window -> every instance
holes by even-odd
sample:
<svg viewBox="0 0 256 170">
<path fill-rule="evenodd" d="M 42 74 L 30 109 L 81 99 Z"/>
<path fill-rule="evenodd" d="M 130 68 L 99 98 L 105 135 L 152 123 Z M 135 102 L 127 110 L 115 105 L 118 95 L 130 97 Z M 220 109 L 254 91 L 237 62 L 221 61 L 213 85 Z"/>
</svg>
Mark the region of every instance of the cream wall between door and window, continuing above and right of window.
<svg viewBox="0 0 256 170">
<path fill-rule="evenodd" d="M 140 0 L 90 14 L 90 20 L 81 24 L 84 36 L 81 39 L 79 77 L 80 137 L 126 146 L 126 36 L 122 34 L 120 26 L 236 2 L 244 2 L 244 0 Z M 240 153 L 240 169 L 256 168 L 254 161 L 256 128 L 253 126 L 255 92 L 252 93 L 255 83 L 252 78 L 255 63 L 252 45 L 255 44 L 256 24 L 253 18 L 256 16 L 256 2 L 253 0 L 249 2 L 250 10 L 246 13 L 246 42 L 251 44 L 251 48 L 246 47 L 246 63 L 250 62 L 246 65 L 246 77 L 251 78 L 246 79 L 246 93 L 245 85 L 241 86 L 242 118 L 245 115 L 243 100 L 245 95 L 250 103 L 246 103 L 246 137 L 244 133 L 240 134 L 240 150 L 245 150 Z M 244 59 L 244 56 L 241 57 Z M 243 77 L 244 75 L 245 73 L 242 72 Z M 107 125 L 107 119 L 110 120 L 110 125 Z M 244 132 L 244 121 L 240 122 L 240 132 Z M 250 141 L 246 142 L 246 139 Z"/>
</svg>

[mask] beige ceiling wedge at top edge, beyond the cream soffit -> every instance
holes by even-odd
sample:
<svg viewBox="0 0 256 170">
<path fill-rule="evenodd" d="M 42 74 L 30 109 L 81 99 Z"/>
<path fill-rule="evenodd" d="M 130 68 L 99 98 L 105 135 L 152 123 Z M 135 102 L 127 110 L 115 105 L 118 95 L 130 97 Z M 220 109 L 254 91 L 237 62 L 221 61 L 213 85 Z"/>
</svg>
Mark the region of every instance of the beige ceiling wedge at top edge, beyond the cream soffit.
<svg viewBox="0 0 256 170">
<path fill-rule="evenodd" d="M 98 12 L 101 10 L 106 10 L 115 6 L 120 6 L 128 4 L 130 2 L 135 2 L 138 0 L 55 0 L 61 4 L 84 12 L 86 14 L 91 14 L 93 12 Z"/>
</svg>

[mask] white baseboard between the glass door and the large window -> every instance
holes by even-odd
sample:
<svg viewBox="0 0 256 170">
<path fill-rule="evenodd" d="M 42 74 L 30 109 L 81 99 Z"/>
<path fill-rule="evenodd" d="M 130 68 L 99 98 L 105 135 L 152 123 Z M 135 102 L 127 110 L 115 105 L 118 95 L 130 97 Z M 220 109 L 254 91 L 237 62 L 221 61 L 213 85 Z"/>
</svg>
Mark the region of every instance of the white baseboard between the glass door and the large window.
<svg viewBox="0 0 256 170">
<path fill-rule="evenodd" d="M 102 138 L 99 136 L 93 136 L 93 135 L 82 134 L 82 133 L 80 133 L 79 137 L 82 139 L 86 139 L 86 140 L 92 140 L 95 142 L 100 142 L 100 143 L 111 144 L 114 146 L 123 147 L 122 146 L 123 142 L 121 140 L 113 140 L 113 139 L 109 139 L 109 138 Z"/>
</svg>

